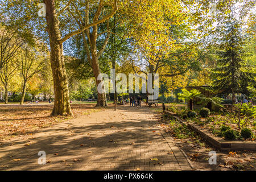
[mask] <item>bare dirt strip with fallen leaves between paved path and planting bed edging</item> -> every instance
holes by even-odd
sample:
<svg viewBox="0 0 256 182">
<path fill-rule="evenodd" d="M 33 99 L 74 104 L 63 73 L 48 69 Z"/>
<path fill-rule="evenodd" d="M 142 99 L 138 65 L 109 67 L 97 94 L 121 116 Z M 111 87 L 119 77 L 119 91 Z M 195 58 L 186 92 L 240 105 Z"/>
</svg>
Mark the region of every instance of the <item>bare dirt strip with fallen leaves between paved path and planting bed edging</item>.
<svg viewBox="0 0 256 182">
<path fill-rule="evenodd" d="M 181 148 L 191 160 L 193 167 L 197 170 L 256 170 L 255 151 L 219 151 L 210 146 L 203 138 L 197 134 L 185 139 L 175 137 L 174 131 L 170 127 L 170 118 L 163 114 L 158 114 L 159 126 L 162 127 L 174 139 L 176 146 Z M 216 151 L 217 164 L 209 164 L 209 152 Z"/>
</svg>

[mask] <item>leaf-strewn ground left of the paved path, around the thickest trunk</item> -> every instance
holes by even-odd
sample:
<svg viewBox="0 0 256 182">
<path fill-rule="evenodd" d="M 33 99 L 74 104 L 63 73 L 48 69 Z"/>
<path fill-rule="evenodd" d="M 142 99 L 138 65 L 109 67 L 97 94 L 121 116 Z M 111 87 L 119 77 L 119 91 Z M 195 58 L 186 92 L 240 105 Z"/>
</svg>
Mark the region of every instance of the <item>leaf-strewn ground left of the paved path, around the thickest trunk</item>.
<svg viewBox="0 0 256 182">
<path fill-rule="evenodd" d="M 53 104 L 0 105 L 0 141 L 31 135 L 40 128 L 101 110 L 94 106 L 95 104 L 71 104 L 73 117 L 53 117 Z"/>
</svg>

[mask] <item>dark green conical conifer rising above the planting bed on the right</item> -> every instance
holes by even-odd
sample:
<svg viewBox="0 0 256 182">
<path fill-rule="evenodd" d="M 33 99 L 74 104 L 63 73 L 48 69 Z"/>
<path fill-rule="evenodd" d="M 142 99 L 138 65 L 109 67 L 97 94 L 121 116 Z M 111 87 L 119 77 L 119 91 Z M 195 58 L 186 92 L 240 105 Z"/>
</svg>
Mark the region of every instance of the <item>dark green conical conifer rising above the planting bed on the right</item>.
<svg viewBox="0 0 256 182">
<path fill-rule="evenodd" d="M 247 86 L 255 85 L 255 68 L 246 64 L 245 37 L 242 35 L 241 24 L 234 18 L 226 22 L 226 30 L 220 40 L 220 49 L 217 51 L 219 59 L 217 68 L 212 69 L 214 78 L 212 89 L 216 92 L 232 93 L 235 102 L 235 93 L 248 93 Z"/>
</svg>

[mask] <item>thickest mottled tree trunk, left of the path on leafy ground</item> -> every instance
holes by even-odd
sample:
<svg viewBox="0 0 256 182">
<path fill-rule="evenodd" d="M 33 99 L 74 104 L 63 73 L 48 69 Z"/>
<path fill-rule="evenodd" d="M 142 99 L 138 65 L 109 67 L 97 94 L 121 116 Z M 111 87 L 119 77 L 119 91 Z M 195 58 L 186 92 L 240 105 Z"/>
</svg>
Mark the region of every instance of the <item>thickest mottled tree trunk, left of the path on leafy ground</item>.
<svg viewBox="0 0 256 182">
<path fill-rule="evenodd" d="M 72 115 L 63 44 L 60 43 L 61 34 L 54 0 L 44 0 L 44 3 L 46 3 L 47 31 L 51 47 L 51 68 L 55 96 L 52 115 Z"/>
</svg>

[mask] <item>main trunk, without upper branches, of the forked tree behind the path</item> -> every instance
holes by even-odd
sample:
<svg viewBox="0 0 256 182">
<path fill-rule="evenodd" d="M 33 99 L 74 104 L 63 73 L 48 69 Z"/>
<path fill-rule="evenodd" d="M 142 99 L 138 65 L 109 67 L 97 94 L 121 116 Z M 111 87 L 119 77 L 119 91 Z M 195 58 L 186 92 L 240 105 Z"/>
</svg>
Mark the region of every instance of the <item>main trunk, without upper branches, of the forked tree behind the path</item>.
<svg viewBox="0 0 256 182">
<path fill-rule="evenodd" d="M 100 75 L 101 71 L 100 71 L 100 67 L 98 65 L 98 55 L 97 55 L 97 27 L 93 27 L 93 34 L 90 38 L 91 40 L 91 53 L 92 53 L 92 69 L 93 69 L 93 75 L 96 79 L 96 85 L 98 88 L 98 85 L 100 84 L 100 82 L 102 80 L 98 80 L 98 75 Z M 107 102 L 106 102 L 106 94 L 105 93 L 99 93 L 98 92 L 98 99 L 97 99 L 97 104 L 96 106 L 108 106 Z"/>
</svg>

